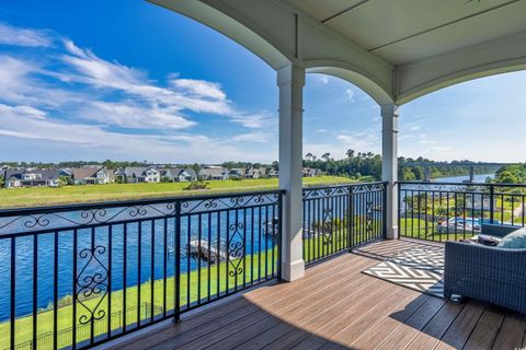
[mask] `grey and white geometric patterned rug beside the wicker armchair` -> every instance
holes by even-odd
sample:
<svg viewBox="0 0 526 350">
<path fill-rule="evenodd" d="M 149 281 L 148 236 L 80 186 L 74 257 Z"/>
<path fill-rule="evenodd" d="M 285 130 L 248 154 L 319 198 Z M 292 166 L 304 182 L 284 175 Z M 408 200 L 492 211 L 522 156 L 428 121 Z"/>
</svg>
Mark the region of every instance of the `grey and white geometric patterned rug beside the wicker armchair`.
<svg viewBox="0 0 526 350">
<path fill-rule="evenodd" d="M 363 272 L 422 293 L 444 298 L 442 247 L 402 250 Z"/>
</svg>

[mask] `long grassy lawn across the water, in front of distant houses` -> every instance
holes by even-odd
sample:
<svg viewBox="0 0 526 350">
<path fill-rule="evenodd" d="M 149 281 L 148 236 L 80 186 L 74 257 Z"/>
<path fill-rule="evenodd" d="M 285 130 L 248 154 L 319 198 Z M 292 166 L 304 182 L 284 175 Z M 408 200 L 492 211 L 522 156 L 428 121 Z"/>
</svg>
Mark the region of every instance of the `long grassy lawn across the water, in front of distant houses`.
<svg viewBox="0 0 526 350">
<path fill-rule="evenodd" d="M 364 180 L 368 180 L 368 178 L 364 178 Z M 304 185 L 306 186 L 347 184 L 352 182 L 353 180 L 347 177 L 339 176 L 318 176 L 304 178 Z M 1 188 L 0 208 L 275 189 L 277 188 L 277 178 L 209 180 L 209 189 L 205 190 L 185 190 L 184 188 L 186 186 L 188 186 L 188 183 L 79 185 L 64 186 L 59 188 Z"/>
</svg>

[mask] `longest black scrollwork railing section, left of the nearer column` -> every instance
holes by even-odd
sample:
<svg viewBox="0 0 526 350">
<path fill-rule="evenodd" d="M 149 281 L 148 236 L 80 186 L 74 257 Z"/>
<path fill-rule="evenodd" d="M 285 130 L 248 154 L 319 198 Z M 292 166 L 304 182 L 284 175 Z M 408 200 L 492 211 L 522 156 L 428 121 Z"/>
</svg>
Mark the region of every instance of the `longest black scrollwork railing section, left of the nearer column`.
<svg viewBox="0 0 526 350">
<path fill-rule="evenodd" d="M 0 211 L 0 349 L 91 347 L 277 277 L 282 200 L 275 190 Z"/>
</svg>

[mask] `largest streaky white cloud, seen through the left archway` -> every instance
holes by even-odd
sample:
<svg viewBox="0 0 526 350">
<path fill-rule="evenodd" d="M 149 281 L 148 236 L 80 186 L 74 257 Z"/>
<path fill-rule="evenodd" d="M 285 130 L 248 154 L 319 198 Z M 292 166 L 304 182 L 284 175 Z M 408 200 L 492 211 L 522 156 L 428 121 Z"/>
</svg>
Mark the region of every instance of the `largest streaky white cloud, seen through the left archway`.
<svg viewBox="0 0 526 350">
<path fill-rule="evenodd" d="M 53 70 L 0 56 L 0 102 L 52 108 L 78 119 L 124 128 L 182 129 L 196 125 L 185 112 L 226 116 L 251 129 L 275 122 L 267 113 L 247 114 L 235 108 L 218 83 L 171 74 L 163 88 L 152 83 L 146 72 L 103 60 L 69 39 L 64 40 L 64 49 L 66 54 L 59 58 L 66 66 L 54 65 Z M 67 86 L 44 82 L 38 74 L 84 89 L 71 92 Z"/>
</svg>

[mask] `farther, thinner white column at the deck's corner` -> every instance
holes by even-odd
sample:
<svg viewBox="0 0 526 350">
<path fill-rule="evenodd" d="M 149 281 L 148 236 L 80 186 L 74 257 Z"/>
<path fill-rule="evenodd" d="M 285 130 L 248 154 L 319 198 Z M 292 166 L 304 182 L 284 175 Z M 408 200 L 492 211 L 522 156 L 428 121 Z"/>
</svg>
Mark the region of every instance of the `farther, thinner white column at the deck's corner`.
<svg viewBox="0 0 526 350">
<path fill-rule="evenodd" d="M 387 186 L 387 237 L 398 238 L 398 106 L 381 106 L 381 179 Z"/>
</svg>

